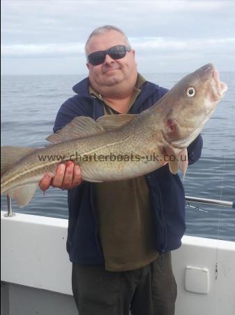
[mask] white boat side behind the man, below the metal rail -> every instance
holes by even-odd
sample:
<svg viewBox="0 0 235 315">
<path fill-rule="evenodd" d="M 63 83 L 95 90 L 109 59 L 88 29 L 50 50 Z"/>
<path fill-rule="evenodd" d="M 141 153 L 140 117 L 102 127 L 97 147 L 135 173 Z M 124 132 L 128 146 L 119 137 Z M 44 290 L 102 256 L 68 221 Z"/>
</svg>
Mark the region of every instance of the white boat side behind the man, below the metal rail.
<svg viewBox="0 0 235 315">
<path fill-rule="evenodd" d="M 67 228 L 65 219 L 1 211 L 1 314 L 77 314 Z M 235 314 L 235 242 L 185 236 L 172 263 L 176 315 Z"/>
</svg>

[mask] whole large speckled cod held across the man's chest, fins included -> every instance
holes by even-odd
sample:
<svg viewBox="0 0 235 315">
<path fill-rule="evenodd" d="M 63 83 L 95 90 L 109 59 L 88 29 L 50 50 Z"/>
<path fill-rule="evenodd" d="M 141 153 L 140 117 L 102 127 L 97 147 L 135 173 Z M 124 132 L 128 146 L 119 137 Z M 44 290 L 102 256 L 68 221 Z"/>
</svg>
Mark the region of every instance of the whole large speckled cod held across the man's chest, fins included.
<svg viewBox="0 0 235 315">
<path fill-rule="evenodd" d="M 187 147 L 199 135 L 227 90 L 218 70 L 206 64 L 176 83 L 138 115 L 75 118 L 50 135 L 45 148 L 1 148 L 1 194 L 28 204 L 45 173 L 74 160 L 85 181 L 131 179 L 169 164 L 173 174 L 188 167 Z"/>
</svg>

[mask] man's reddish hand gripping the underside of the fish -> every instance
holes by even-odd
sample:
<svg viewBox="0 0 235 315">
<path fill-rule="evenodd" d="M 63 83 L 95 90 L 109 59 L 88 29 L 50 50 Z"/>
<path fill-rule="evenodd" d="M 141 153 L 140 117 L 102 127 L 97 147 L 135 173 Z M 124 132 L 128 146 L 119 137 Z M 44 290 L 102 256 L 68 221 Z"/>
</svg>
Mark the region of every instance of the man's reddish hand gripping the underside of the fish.
<svg viewBox="0 0 235 315">
<path fill-rule="evenodd" d="M 45 191 L 50 186 L 61 189 L 73 189 L 82 183 L 81 169 L 78 165 L 68 161 L 66 165 L 60 164 L 56 169 L 56 174 L 47 173 L 39 183 L 41 190 Z"/>
</svg>

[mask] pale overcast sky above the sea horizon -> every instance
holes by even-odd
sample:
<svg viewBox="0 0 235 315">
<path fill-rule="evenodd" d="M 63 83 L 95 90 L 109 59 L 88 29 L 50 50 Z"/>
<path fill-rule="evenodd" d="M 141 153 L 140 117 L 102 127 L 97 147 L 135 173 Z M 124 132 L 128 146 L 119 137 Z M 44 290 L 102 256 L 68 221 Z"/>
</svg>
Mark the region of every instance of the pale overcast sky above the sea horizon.
<svg viewBox="0 0 235 315">
<path fill-rule="evenodd" d="M 106 24 L 130 38 L 142 73 L 235 71 L 234 17 L 232 0 L 1 0 L 1 73 L 87 73 L 84 43 Z"/>
</svg>

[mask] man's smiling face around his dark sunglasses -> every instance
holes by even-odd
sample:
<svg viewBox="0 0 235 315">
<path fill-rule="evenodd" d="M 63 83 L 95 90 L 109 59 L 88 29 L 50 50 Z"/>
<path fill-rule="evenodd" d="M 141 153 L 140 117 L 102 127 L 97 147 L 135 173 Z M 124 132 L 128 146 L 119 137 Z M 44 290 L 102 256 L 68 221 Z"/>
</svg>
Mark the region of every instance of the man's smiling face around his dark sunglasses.
<svg viewBox="0 0 235 315">
<path fill-rule="evenodd" d="M 88 45 L 88 55 L 98 50 L 107 50 L 116 45 L 126 45 L 123 34 L 119 31 L 107 31 L 105 34 L 99 34 L 91 37 Z M 114 60 L 106 55 L 103 64 L 93 66 L 89 62 L 86 64 L 89 69 L 89 79 L 91 85 L 99 92 L 103 87 L 112 87 L 116 84 L 126 82 L 137 73 L 135 62 L 135 51 L 131 50 L 126 56 Z"/>
</svg>

